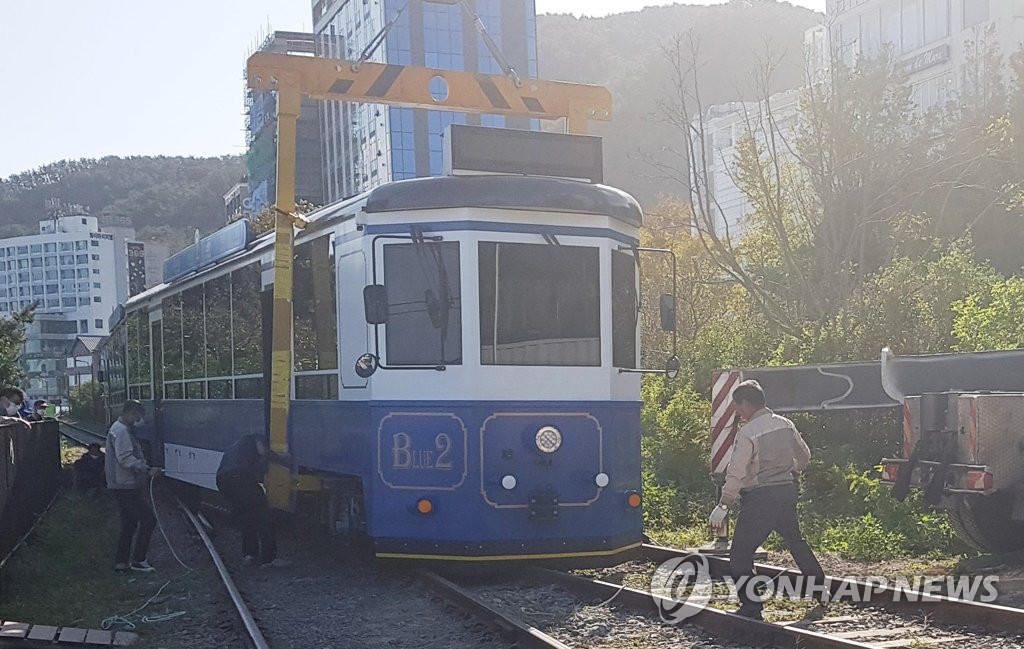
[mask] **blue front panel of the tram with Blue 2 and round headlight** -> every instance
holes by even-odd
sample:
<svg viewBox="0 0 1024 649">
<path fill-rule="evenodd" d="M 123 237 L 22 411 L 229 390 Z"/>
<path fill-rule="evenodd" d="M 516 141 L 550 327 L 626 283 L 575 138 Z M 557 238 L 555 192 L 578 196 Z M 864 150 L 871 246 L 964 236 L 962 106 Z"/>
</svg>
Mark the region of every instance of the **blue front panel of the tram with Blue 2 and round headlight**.
<svg viewBox="0 0 1024 649">
<path fill-rule="evenodd" d="M 379 556 L 604 554 L 640 543 L 640 404 L 373 404 L 376 475 L 365 482 Z M 539 429 L 562 435 L 552 453 Z M 609 482 L 600 487 L 598 474 Z M 502 479 L 515 478 L 506 488 Z M 428 515 L 416 505 L 427 499 Z"/>
</svg>

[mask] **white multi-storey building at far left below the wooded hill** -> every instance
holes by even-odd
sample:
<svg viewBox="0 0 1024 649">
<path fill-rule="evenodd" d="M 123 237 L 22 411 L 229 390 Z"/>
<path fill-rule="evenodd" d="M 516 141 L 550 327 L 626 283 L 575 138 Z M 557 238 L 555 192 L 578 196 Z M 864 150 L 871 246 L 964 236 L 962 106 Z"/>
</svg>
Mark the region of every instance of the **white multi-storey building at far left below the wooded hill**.
<svg viewBox="0 0 1024 649">
<path fill-rule="evenodd" d="M 36 304 L 22 355 L 33 399 L 57 399 L 67 354 L 80 335 L 106 336 L 108 318 L 128 294 L 116 237 L 84 214 L 40 221 L 39 233 L 0 240 L 0 317 Z"/>
</svg>

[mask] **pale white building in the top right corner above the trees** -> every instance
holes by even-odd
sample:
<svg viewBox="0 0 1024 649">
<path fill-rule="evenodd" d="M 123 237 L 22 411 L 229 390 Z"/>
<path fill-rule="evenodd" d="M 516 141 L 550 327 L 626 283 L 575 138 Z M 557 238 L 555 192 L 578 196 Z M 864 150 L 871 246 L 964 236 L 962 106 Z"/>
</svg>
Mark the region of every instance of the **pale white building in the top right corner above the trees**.
<svg viewBox="0 0 1024 649">
<path fill-rule="evenodd" d="M 848 64 L 890 48 L 921 112 L 954 100 L 978 44 L 1004 55 L 1024 41 L 1024 3 L 1010 0 L 829 0 L 833 54 Z"/>
</svg>

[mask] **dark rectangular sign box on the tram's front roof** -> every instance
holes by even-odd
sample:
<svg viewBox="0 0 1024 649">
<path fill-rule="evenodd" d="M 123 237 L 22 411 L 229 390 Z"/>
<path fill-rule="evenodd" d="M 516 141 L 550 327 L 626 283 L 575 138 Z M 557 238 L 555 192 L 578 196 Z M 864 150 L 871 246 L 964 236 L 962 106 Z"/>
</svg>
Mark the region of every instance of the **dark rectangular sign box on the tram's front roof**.
<svg viewBox="0 0 1024 649">
<path fill-rule="evenodd" d="M 601 138 L 462 126 L 444 131 L 444 173 L 517 174 L 604 181 Z"/>
</svg>

